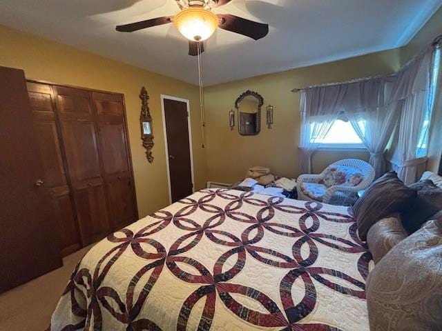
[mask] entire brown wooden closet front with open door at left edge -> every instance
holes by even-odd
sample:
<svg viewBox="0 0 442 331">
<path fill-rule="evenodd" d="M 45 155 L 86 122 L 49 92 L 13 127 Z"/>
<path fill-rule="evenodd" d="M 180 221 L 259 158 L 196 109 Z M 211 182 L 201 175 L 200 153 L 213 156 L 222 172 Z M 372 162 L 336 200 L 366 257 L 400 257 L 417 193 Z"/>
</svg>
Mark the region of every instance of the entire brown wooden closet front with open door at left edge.
<svg viewBox="0 0 442 331">
<path fill-rule="evenodd" d="M 0 292 L 138 219 L 122 94 L 0 67 Z"/>
</svg>

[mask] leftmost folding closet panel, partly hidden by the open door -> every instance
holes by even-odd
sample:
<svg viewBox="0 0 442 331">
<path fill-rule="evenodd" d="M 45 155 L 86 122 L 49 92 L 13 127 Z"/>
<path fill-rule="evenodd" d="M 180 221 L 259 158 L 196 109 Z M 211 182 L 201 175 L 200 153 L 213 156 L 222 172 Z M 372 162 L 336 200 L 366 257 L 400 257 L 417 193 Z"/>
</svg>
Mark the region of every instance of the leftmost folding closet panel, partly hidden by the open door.
<svg viewBox="0 0 442 331">
<path fill-rule="evenodd" d="M 75 208 L 70 197 L 52 86 L 28 82 L 28 94 L 37 143 L 43 159 L 46 185 L 52 195 L 55 220 L 59 228 L 61 256 L 81 248 Z"/>
</svg>

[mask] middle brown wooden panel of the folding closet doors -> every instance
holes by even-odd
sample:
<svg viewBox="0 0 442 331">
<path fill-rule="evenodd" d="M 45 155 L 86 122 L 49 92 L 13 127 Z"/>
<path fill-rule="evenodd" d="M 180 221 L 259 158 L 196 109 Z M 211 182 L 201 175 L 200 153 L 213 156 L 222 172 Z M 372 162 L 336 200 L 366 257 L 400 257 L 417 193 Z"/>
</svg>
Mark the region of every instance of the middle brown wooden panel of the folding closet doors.
<svg viewBox="0 0 442 331">
<path fill-rule="evenodd" d="M 93 104 L 86 90 L 60 86 L 55 90 L 79 230 L 83 244 L 88 245 L 111 230 Z"/>
</svg>

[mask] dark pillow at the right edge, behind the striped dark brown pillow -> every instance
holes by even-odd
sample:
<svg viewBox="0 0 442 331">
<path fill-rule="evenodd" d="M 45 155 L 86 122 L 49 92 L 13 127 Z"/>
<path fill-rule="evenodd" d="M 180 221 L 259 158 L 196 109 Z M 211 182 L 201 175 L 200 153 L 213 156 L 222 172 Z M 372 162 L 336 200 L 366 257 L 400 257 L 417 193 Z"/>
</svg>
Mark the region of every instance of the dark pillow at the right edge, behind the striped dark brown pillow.
<svg viewBox="0 0 442 331">
<path fill-rule="evenodd" d="M 419 230 L 434 213 L 442 210 L 442 188 L 438 188 L 430 179 L 410 185 L 416 190 L 417 197 L 402 212 L 403 227 L 409 234 Z"/>
</svg>

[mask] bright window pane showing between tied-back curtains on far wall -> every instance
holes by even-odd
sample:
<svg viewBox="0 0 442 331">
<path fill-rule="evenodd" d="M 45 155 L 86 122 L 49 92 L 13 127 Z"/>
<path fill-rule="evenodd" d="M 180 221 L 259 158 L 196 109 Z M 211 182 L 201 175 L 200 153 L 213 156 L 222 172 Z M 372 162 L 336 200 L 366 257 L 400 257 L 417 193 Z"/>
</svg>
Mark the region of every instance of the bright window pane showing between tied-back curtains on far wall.
<svg viewBox="0 0 442 331">
<path fill-rule="evenodd" d="M 359 123 L 364 128 L 364 121 Z M 311 137 L 313 142 L 315 137 Z M 365 148 L 361 138 L 354 131 L 349 121 L 338 119 L 334 122 L 327 136 L 320 141 L 320 148 Z"/>
</svg>

